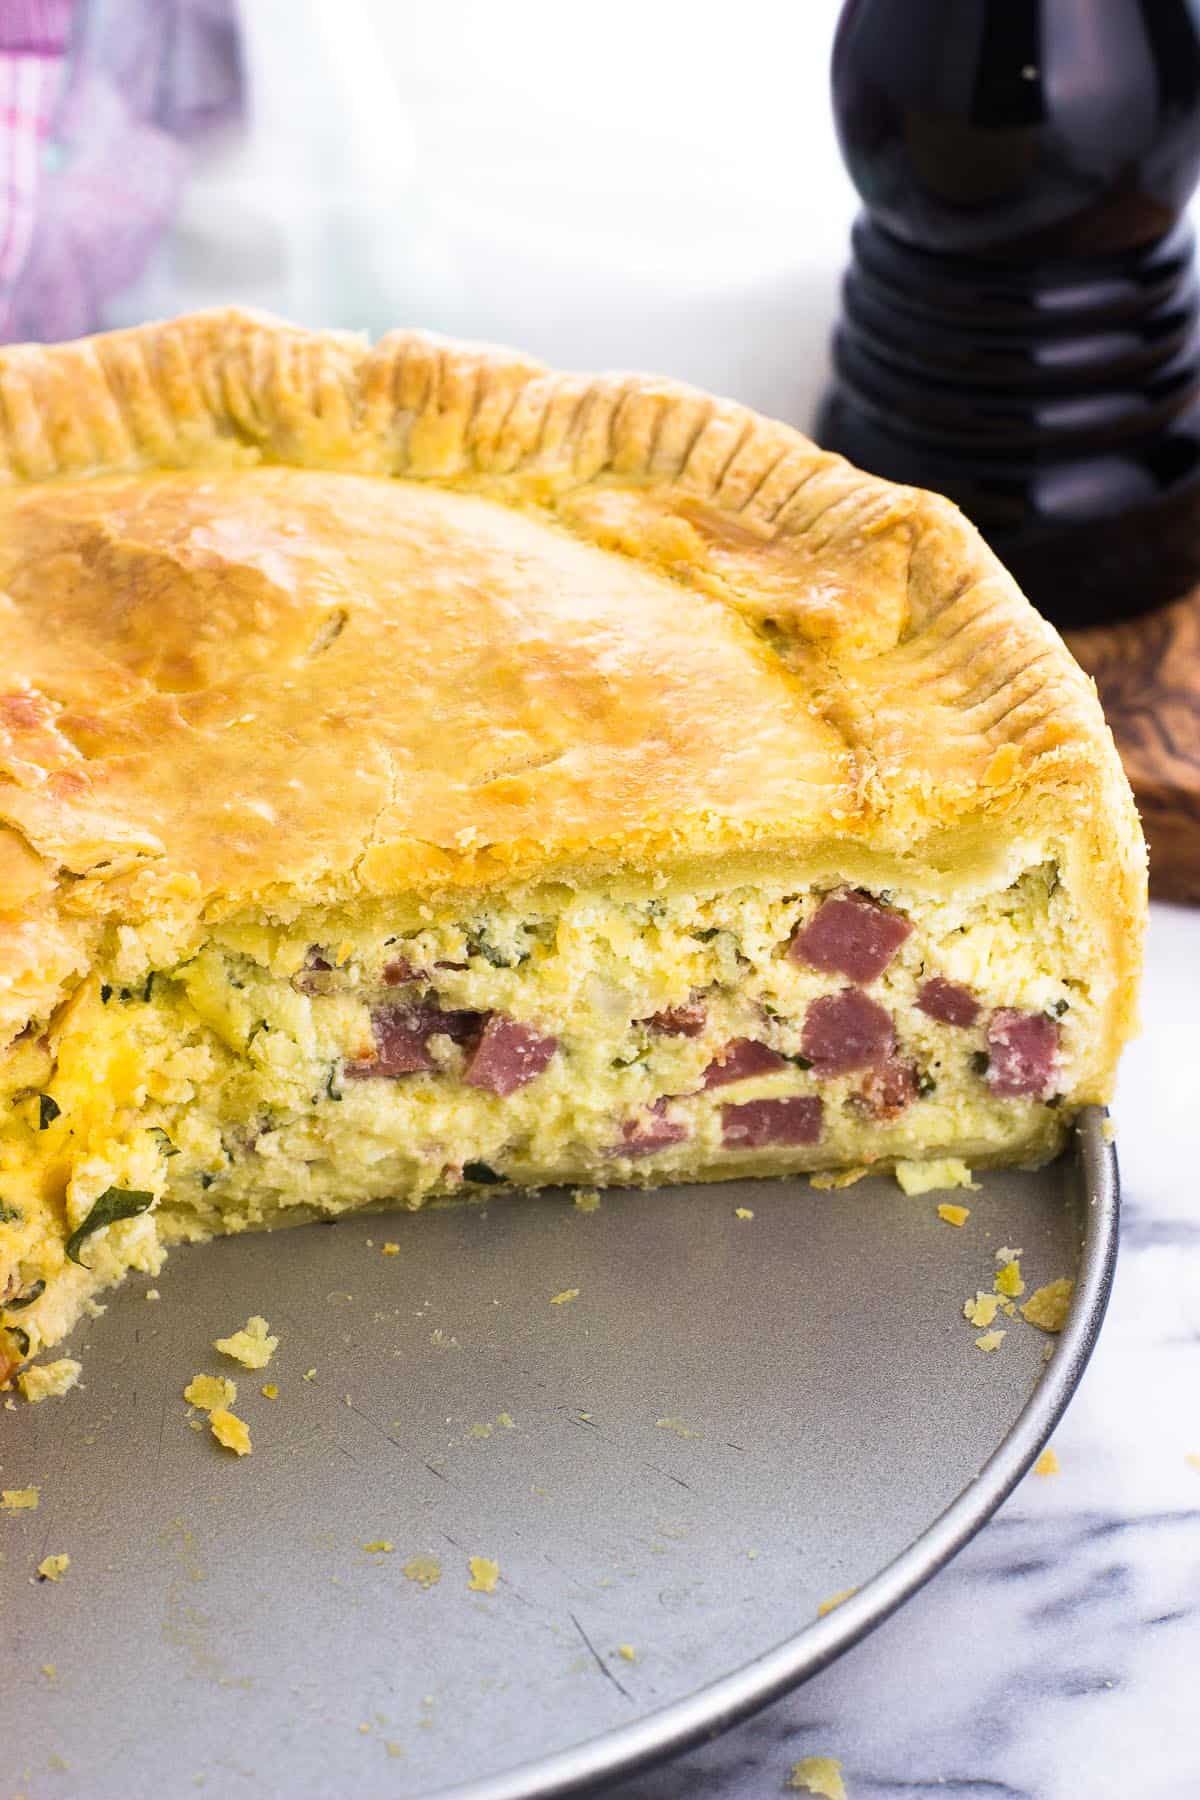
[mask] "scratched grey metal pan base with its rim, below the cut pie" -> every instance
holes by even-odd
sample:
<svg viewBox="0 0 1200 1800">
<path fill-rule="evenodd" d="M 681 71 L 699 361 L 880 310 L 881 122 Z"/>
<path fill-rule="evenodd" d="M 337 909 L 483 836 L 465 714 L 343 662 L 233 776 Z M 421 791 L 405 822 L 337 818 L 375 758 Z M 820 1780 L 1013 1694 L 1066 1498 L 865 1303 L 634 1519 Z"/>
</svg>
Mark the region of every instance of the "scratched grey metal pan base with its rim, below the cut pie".
<svg viewBox="0 0 1200 1800">
<path fill-rule="evenodd" d="M 950 1229 L 889 1179 L 543 1195 L 178 1251 L 158 1303 L 139 1280 L 79 1334 L 83 1390 L 0 1415 L 2 1485 L 41 1487 L 0 1519 L 7 1786 L 554 1795 L 783 1692 L 979 1528 L 1087 1361 L 1099 1118 L 964 1199 Z M 1004 1244 L 1031 1285 L 1078 1276 L 1049 1363 L 963 1319 Z M 209 1348 L 250 1312 L 281 1337 L 261 1375 Z M 250 1458 L 187 1424 L 221 1368 Z"/>
</svg>

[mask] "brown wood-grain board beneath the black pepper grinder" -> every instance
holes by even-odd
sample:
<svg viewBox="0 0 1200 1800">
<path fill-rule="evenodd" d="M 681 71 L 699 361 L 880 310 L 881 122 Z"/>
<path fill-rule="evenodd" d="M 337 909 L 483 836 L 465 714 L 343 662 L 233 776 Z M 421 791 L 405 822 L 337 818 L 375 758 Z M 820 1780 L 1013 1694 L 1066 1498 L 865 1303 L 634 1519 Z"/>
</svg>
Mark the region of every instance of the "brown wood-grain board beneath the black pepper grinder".
<svg viewBox="0 0 1200 1800">
<path fill-rule="evenodd" d="M 1153 895 L 1200 905 L 1200 587 L 1067 643 L 1096 677 L 1137 796 Z"/>
</svg>

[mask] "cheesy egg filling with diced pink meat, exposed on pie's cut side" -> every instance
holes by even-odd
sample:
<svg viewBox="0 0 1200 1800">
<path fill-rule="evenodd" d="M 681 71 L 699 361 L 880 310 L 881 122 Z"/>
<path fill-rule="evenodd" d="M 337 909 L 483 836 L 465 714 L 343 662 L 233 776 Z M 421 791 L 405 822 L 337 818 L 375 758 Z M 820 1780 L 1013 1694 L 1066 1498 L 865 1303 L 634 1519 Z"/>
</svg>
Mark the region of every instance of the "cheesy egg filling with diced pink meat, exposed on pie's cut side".
<svg viewBox="0 0 1200 1800">
<path fill-rule="evenodd" d="M 4 1323 L 36 1348 L 59 1271 L 110 1282 L 288 1215 L 1045 1156 L 1094 1030 L 1052 860 L 961 900 L 779 884 L 426 911 L 225 927 L 173 968 L 122 932 L 110 977 L 7 1057 Z"/>
</svg>

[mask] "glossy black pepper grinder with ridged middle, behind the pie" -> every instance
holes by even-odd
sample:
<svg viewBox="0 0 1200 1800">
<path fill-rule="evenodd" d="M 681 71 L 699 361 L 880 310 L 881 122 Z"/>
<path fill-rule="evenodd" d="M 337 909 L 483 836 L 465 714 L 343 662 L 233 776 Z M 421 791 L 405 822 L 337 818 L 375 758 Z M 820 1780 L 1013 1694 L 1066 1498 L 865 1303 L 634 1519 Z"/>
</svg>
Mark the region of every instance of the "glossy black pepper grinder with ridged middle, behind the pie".
<svg viewBox="0 0 1200 1800">
<path fill-rule="evenodd" d="M 1200 580 L 1200 0 L 847 0 L 817 437 L 948 493 L 1065 626 Z"/>
</svg>

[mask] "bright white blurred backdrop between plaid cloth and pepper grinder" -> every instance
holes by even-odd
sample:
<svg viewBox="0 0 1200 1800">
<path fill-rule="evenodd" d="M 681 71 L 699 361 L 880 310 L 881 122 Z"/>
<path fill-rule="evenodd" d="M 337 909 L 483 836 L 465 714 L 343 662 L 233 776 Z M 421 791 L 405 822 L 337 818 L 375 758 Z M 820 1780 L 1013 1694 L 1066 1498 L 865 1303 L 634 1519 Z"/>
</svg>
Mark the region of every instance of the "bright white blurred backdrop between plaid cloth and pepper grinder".
<svg viewBox="0 0 1200 1800">
<path fill-rule="evenodd" d="M 230 299 L 808 423 L 855 196 L 835 0 L 245 0 L 250 130 L 110 324 Z"/>
</svg>

